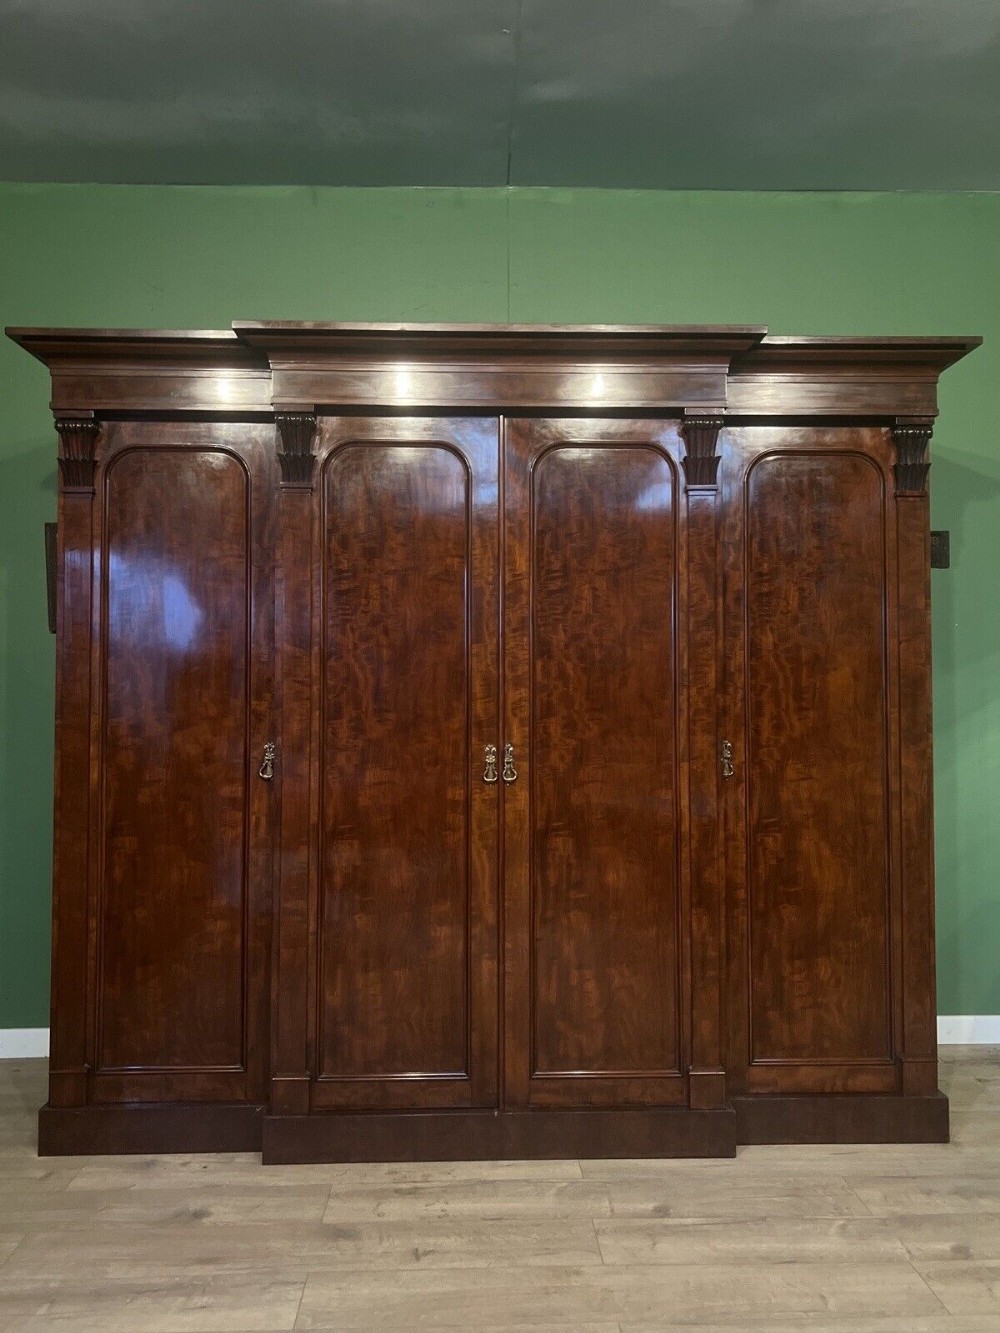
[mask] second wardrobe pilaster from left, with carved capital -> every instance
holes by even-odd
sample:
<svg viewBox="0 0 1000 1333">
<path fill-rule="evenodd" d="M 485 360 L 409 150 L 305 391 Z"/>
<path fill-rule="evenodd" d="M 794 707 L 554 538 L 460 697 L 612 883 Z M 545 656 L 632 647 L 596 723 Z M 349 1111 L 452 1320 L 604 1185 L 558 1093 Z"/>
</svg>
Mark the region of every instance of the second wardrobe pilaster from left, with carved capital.
<svg viewBox="0 0 1000 1333">
<path fill-rule="evenodd" d="M 313 473 L 316 417 L 276 416 L 281 469 L 277 513 L 275 635 L 281 818 L 277 858 L 272 1004 L 271 1113 L 309 1110 L 309 890 L 313 750 Z"/>
</svg>

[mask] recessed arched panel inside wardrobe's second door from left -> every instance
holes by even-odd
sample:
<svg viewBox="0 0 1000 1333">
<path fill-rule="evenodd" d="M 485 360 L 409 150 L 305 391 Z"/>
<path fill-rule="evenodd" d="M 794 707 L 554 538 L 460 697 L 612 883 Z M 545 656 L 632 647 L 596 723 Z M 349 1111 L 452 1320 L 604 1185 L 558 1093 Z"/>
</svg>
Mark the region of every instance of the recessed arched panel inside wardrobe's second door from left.
<svg viewBox="0 0 1000 1333">
<path fill-rule="evenodd" d="M 433 443 L 323 471 L 320 1078 L 468 1073 L 468 481 Z"/>
</svg>

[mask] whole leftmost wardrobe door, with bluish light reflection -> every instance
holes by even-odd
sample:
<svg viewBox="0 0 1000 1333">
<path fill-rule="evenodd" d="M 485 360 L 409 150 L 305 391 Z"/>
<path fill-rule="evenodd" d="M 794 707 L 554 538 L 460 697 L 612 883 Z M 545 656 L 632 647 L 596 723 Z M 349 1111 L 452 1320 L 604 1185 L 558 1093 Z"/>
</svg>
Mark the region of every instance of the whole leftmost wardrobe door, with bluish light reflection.
<svg viewBox="0 0 1000 1333">
<path fill-rule="evenodd" d="M 272 432 L 109 423 L 104 433 L 91 1100 L 260 1101 L 273 793 L 257 769 L 273 736 Z"/>
</svg>

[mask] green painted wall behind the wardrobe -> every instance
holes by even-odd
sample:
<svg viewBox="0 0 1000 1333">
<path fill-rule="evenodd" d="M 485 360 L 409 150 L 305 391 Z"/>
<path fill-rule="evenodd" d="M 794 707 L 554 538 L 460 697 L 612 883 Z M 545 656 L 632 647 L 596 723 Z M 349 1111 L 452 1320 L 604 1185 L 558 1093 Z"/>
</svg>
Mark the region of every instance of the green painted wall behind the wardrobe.
<svg viewBox="0 0 1000 1333">
<path fill-rule="evenodd" d="M 939 1008 L 1000 1013 L 1000 195 L 0 185 L 1 323 L 237 317 L 984 335 L 933 441 Z M 0 1026 L 47 1021 L 47 399 L 0 344 Z"/>
</svg>

